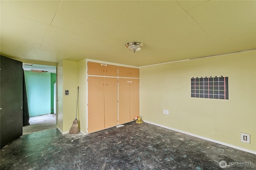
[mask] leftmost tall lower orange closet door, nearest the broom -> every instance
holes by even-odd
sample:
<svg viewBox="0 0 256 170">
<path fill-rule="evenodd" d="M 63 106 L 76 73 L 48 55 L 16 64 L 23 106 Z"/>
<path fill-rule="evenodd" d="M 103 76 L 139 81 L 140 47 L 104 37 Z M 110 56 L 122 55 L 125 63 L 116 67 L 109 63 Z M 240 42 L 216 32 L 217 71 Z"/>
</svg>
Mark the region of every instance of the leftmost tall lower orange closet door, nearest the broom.
<svg viewBox="0 0 256 170">
<path fill-rule="evenodd" d="M 88 133 L 104 129 L 104 77 L 88 76 Z"/>
</svg>

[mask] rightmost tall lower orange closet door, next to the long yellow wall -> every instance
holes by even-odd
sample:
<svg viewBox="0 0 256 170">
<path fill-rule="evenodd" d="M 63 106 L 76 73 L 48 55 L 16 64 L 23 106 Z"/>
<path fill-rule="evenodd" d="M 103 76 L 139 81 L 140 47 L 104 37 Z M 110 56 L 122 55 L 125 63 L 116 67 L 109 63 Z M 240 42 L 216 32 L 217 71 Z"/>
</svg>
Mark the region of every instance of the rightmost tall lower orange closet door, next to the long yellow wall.
<svg viewBox="0 0 256 170">
<path fill-rule="evenodd" d="M 130 79 L 130 121 L 140 116 L 140 80 Z"/>
</svg>

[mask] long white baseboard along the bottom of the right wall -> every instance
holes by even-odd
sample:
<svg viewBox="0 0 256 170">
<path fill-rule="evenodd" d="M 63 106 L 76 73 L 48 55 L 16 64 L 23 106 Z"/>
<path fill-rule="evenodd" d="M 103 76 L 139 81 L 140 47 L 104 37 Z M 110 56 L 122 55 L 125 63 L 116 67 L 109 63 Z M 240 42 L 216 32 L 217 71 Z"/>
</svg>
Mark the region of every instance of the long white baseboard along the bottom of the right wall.
<svg viewBox="0 0 256 170">
<path fill-rule="evenodd" d="M 146 123 L 150 123 L 150 124 L 152 124 L 152 125 L 156 125 L 156 126 L 159 126 L 159 127 L 164 127 L 164 128 L 166 128 L 166 129 L 170 129 L 170 130 L 173 130 L 173 131 L 177 131 L 177 132 L 180 132 L 180 133 L 184 133 L 184 134 L 186 134 L 186 135 L 190 135 L 190 136 L 193 136 L 193 137 L 198 137 L 198 138 L 204 139 L 204 140 L 206 140 L 206 141 L 218 143 L 218 144 L 220 144 L 220 145 L 224 145 L 224 146 L 231 147 L 231 148 L 234 148 L 234 149 L 243 150 L 243 151 L 245 151 L 245 152 L 249 152 L 249 153 L 252 153 L 252 154 L 256 154 L 256 151 L 254 151 L 254 150 L 249 150 L 249 149 L 237 147 L 237 146 L 235 146 L 235 145 L 230 145 L 230 144 L 228 144 L 228 143 L 216 141 L 216 140 L 213 140 L 213 139 L 210 139 L 210 138 L 202 137 L 202 136 L 195 135 L 195 134 L 192 134 L 192 133 L 188 133 L 188 132 L 185 132 L 185 131 L 180 131 L 180 130 L 178 130 L 178 129 L 174 129 L 174 128 L 167 127 L 167 126 L 164 126 L 164 125 L 160 125 L 160 124 L 157 124 L 157 123 L 153 123 L 153 122 L 150 122 L 150 121 L 146 121 L 146 120 L 143 120 L 143 121 L 146 122 Z"/>
</svg>

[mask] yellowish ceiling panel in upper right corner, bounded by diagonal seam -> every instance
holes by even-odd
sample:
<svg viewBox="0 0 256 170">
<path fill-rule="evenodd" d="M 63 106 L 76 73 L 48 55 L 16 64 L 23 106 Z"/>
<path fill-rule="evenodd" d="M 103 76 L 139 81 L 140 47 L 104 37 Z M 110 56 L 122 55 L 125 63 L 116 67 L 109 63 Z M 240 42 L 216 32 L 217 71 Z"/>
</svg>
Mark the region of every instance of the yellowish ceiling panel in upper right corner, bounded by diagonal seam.
<svg viewBox="0 0 256 170">
<path fill-rule="evenodd" d="M 256 1 L 208 1 L 188 10 L 188 14 L 220 49 L 232 52 L 256 48 Z"/>
</svg>

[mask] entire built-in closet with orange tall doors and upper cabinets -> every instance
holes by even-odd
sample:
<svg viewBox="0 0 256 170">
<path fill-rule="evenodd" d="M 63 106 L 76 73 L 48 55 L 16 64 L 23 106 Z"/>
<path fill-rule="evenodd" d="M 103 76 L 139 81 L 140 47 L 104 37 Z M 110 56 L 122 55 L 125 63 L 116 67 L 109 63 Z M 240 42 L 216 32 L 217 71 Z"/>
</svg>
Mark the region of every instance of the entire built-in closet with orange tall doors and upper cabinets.
<svg viewBox="0 0 256 170">
<path fill-rule="evenodd" d="M 88 62 L 88 133 L 139 116 L 139 69 Z"/>
</svg>

